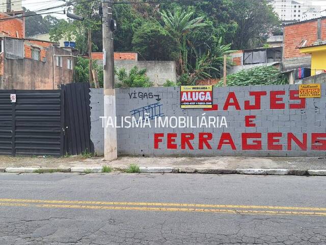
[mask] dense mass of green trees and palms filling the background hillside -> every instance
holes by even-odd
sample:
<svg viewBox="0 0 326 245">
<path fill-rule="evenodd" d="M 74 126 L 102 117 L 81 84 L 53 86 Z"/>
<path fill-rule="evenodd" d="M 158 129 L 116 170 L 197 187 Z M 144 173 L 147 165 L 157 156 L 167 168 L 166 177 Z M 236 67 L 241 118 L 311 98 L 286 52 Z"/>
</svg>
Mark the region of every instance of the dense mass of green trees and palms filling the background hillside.
<svg viewBox="0 0 326 245">
<path fill-rule="evenodd" d="M 117 1 L 113 5 L 118 28 L 114 46 L 117 52 L 138 52 L 146 60 L 176 61 L 183 85 L 203 78 L 220 78 L 224 54 L 262 46 L 269 33 L 280 30 L 279 19 L 267 0 L 167 2 Z M 58 21 L 51 29 L 51 38 L 74 37 L 78 50 L 84 54 L 87 30 L 91 28 L 93 51 L 101 51 L 101 1 L 72 3 L 70 11 L 85 20 Z"/>
</svg>

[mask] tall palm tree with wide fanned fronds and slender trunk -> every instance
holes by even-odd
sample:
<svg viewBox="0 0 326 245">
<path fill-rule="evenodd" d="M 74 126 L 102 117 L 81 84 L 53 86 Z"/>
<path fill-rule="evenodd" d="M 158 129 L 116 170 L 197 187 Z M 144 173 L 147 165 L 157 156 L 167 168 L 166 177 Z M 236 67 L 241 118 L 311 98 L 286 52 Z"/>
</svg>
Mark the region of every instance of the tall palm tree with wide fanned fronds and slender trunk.
<svg viewBox="0 0 326 245">
<path fill-rule="evenodd" d="M 174 14 L 171 11 L 162 10 L 160 12 L 161 18 L 165 23 L 165 28 L 174 36 L 178 42 L 180 48 L 179 54 L 179 74 L 183 74 L 186 71 L 187 65 L 187 47 L 186 47 L 186 35 L 194 28 L 204 27 L 206 23 L 202 23 L 204 17 L 193 18 L 194 11 L 189 10 L 176 10 Z"/>
</svg>

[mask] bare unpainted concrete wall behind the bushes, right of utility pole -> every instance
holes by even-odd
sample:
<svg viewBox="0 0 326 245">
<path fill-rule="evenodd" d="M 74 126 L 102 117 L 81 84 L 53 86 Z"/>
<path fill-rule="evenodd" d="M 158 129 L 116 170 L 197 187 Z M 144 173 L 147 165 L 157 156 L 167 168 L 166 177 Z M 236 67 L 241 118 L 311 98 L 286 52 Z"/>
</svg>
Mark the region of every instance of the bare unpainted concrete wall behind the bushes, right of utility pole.
<svg viewBox="0 0 326 245">
<path fill-rule="evenodd" d="M 102 65 L 102 60 L 97 60 L 99 65 Z M 146 68 L 146 75 L 154 86 L 162 86 L 167 80 L 176 82 L 176 65 L 174 61 L 136 61 L 136 60 L 115 60 L 117 70 L 125 68 L 129 71 L 137 66 L 139 69 Z M 116 80 L 117 77 L 116 77 Z"/>
</svg>

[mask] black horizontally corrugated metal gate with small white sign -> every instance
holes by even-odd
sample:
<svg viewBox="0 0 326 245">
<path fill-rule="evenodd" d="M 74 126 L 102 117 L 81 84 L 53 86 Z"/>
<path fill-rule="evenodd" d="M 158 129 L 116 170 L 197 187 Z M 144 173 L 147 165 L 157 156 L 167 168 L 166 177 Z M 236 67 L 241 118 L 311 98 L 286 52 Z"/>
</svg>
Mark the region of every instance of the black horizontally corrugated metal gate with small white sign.
<svg viewBox="0 0 326 245">
<path fill-rule="evenodd" d="M 62 90 L 0 90 L 0 154 L 63 155 L 63 111 Z"/>
</svg>

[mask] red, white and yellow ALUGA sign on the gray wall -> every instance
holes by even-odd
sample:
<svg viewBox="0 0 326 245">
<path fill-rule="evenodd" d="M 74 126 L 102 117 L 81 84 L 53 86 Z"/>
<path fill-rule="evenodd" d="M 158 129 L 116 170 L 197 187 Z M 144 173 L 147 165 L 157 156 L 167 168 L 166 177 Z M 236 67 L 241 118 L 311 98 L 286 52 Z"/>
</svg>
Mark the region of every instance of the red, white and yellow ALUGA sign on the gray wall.
<svg viewBox="0 0 326 245">
<path fill-rule="evenodd" d="M 212 108 L 212 85 L 181 86 L 180 91 L 181 108 Z"/>
</svg>

